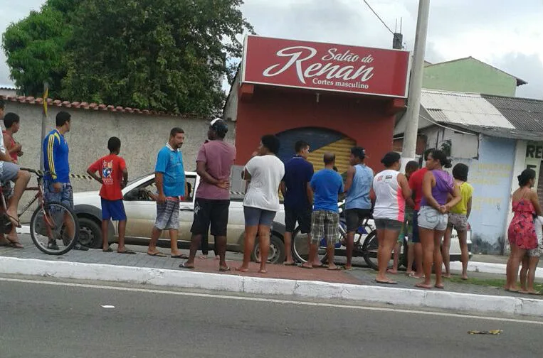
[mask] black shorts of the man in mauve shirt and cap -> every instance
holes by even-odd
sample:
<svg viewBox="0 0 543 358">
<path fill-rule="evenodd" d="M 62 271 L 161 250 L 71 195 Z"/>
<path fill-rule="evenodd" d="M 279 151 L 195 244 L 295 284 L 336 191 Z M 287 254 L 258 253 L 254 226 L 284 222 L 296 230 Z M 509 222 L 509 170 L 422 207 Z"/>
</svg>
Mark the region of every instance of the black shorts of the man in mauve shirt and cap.
<svg viewBox="0 0 543 358">
<path fill-rule="evenodd" d="M 196 197 L 191 233 L 193 235 L 205 235 L 211 224 L 211 235 L 226 236 L 229 207 L 230 200 L 200 199 Z"/>
</svg>

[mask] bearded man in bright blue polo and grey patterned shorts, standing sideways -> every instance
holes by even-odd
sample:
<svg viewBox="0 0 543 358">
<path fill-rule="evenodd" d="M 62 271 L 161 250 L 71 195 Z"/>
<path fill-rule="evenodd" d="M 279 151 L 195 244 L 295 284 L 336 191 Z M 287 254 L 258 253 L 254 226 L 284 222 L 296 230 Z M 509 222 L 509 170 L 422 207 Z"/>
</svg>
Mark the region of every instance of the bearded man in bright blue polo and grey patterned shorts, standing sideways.
<svg viewBox="0 0 543 358">
<path fill-rule="evenodd" d="M 157 185 L 157 219 L 151 233 L 151 241 L 147 254 L 151 256 L 166 256 L 157 249 L 157 241 L 163 230 L 169 230 L 170 249 L 172 257 L 187 259 L 177 247 L 179 232 L 179 198 L 185 195 L 185 170 L 181 146 L 185 140 L 185 132 L 174 128 L 169 133 L 169 141 L 157 156 L 154 168 L 154 183 Z"/>
</svg>

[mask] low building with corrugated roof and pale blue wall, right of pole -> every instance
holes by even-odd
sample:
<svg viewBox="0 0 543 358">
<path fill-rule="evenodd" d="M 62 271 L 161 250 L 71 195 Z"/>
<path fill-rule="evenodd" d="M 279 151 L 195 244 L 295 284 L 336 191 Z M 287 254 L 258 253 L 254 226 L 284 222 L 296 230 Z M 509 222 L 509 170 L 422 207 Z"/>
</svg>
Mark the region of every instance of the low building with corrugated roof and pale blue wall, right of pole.
<svg viewBox="0 0 543 358">
<path fill-rule="evenodd" d="M 401 151 L 406 118 L 394 130 Z M 537 173 L 543 204 L 543 101 L 490 94 L 423 89 L 417 153 L 441 148 L 470 166 L 475 188 L 470 217 L 475 252 L 504 253 L 512 217 L 510 195 L 524 168 Z"/>
</svg>

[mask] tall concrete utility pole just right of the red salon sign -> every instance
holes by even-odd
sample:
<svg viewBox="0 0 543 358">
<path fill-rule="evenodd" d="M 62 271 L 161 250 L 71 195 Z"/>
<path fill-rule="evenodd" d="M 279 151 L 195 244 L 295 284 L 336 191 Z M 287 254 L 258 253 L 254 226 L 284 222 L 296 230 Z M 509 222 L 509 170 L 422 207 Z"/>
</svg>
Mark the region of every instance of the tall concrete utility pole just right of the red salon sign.
<svg viewBox="0 0 543 358">
<path fill-rule="evenodd" d="M 429 13 L 430 0 L 419 0 L 415 48 L 413 50 L 413 63 L 411 65 L 411 79 L 409 80 L 409 97 L 406 113 L 407 126 L 404 133 L 404 148 L 402 148 L 402 156 L 404 157 L 402 162 L 404 164 L 415 158 Z"/>
</svg>

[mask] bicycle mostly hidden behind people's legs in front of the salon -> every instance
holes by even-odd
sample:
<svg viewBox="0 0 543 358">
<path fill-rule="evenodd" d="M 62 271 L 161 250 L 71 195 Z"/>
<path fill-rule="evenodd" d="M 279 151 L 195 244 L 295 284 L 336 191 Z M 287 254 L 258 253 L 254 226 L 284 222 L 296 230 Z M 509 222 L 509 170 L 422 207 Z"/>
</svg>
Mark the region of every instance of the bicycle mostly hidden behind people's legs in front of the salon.
<svg viewBox="0 0 543 358">
<path fill-rule="evenodd" d="M 339 207 L 341 207 L 342 205 L 342 202 L 338 203 Z M 342 214 L 342 212 L 343 210 L 340 208 L 340 215 Z M 370 219 L 371 217 L 366 217 L 364 220 L 362 220 L 359 228 L 356 232 L 354 232 L 354 246 L 352 256 L 362 256 L 364 258 L 364 261 L 366 261 L 366 264 L 370 268 L 377 270 L 377 252 L 379 249 L 379 242 L 377 241 L 377 230 L 375 229 L 375 227 L 369 224 Z M 345 249 L 342 249 L 342 246 L 344 246 L 344 242 L 346 242 L 347 240 L 347 224 L 344 217 L 340 217 L 337 229 L 339 232 L 339 243 L 335 245 L 335 250 L 337 254 L 341 254 L 341 251 L 345 251 Z M 307 256 L 309 253 L 307 246 L 307 237 L 300 237 L 299 234 L 300 227 L 297 227 L 292 233 L 292 256 L 296 261 L 305 263 L 307 262 Z M 406 252 L 406 246 L 407 241 L 404 240 L 403 252 Z M 322 263 L 327 262 L 326 241 L 324 238 L 320 240 L 319 248 L 317 249 L 317 255 L 319 256 L 319 259 Z M 401 255 L 400 266 L 406 265 L 406 257 L 404 256 L 405 255 Z M 389 263 L 389 268 L 391 267 L 392 265 L 391 263 Z"/>
</svg>

